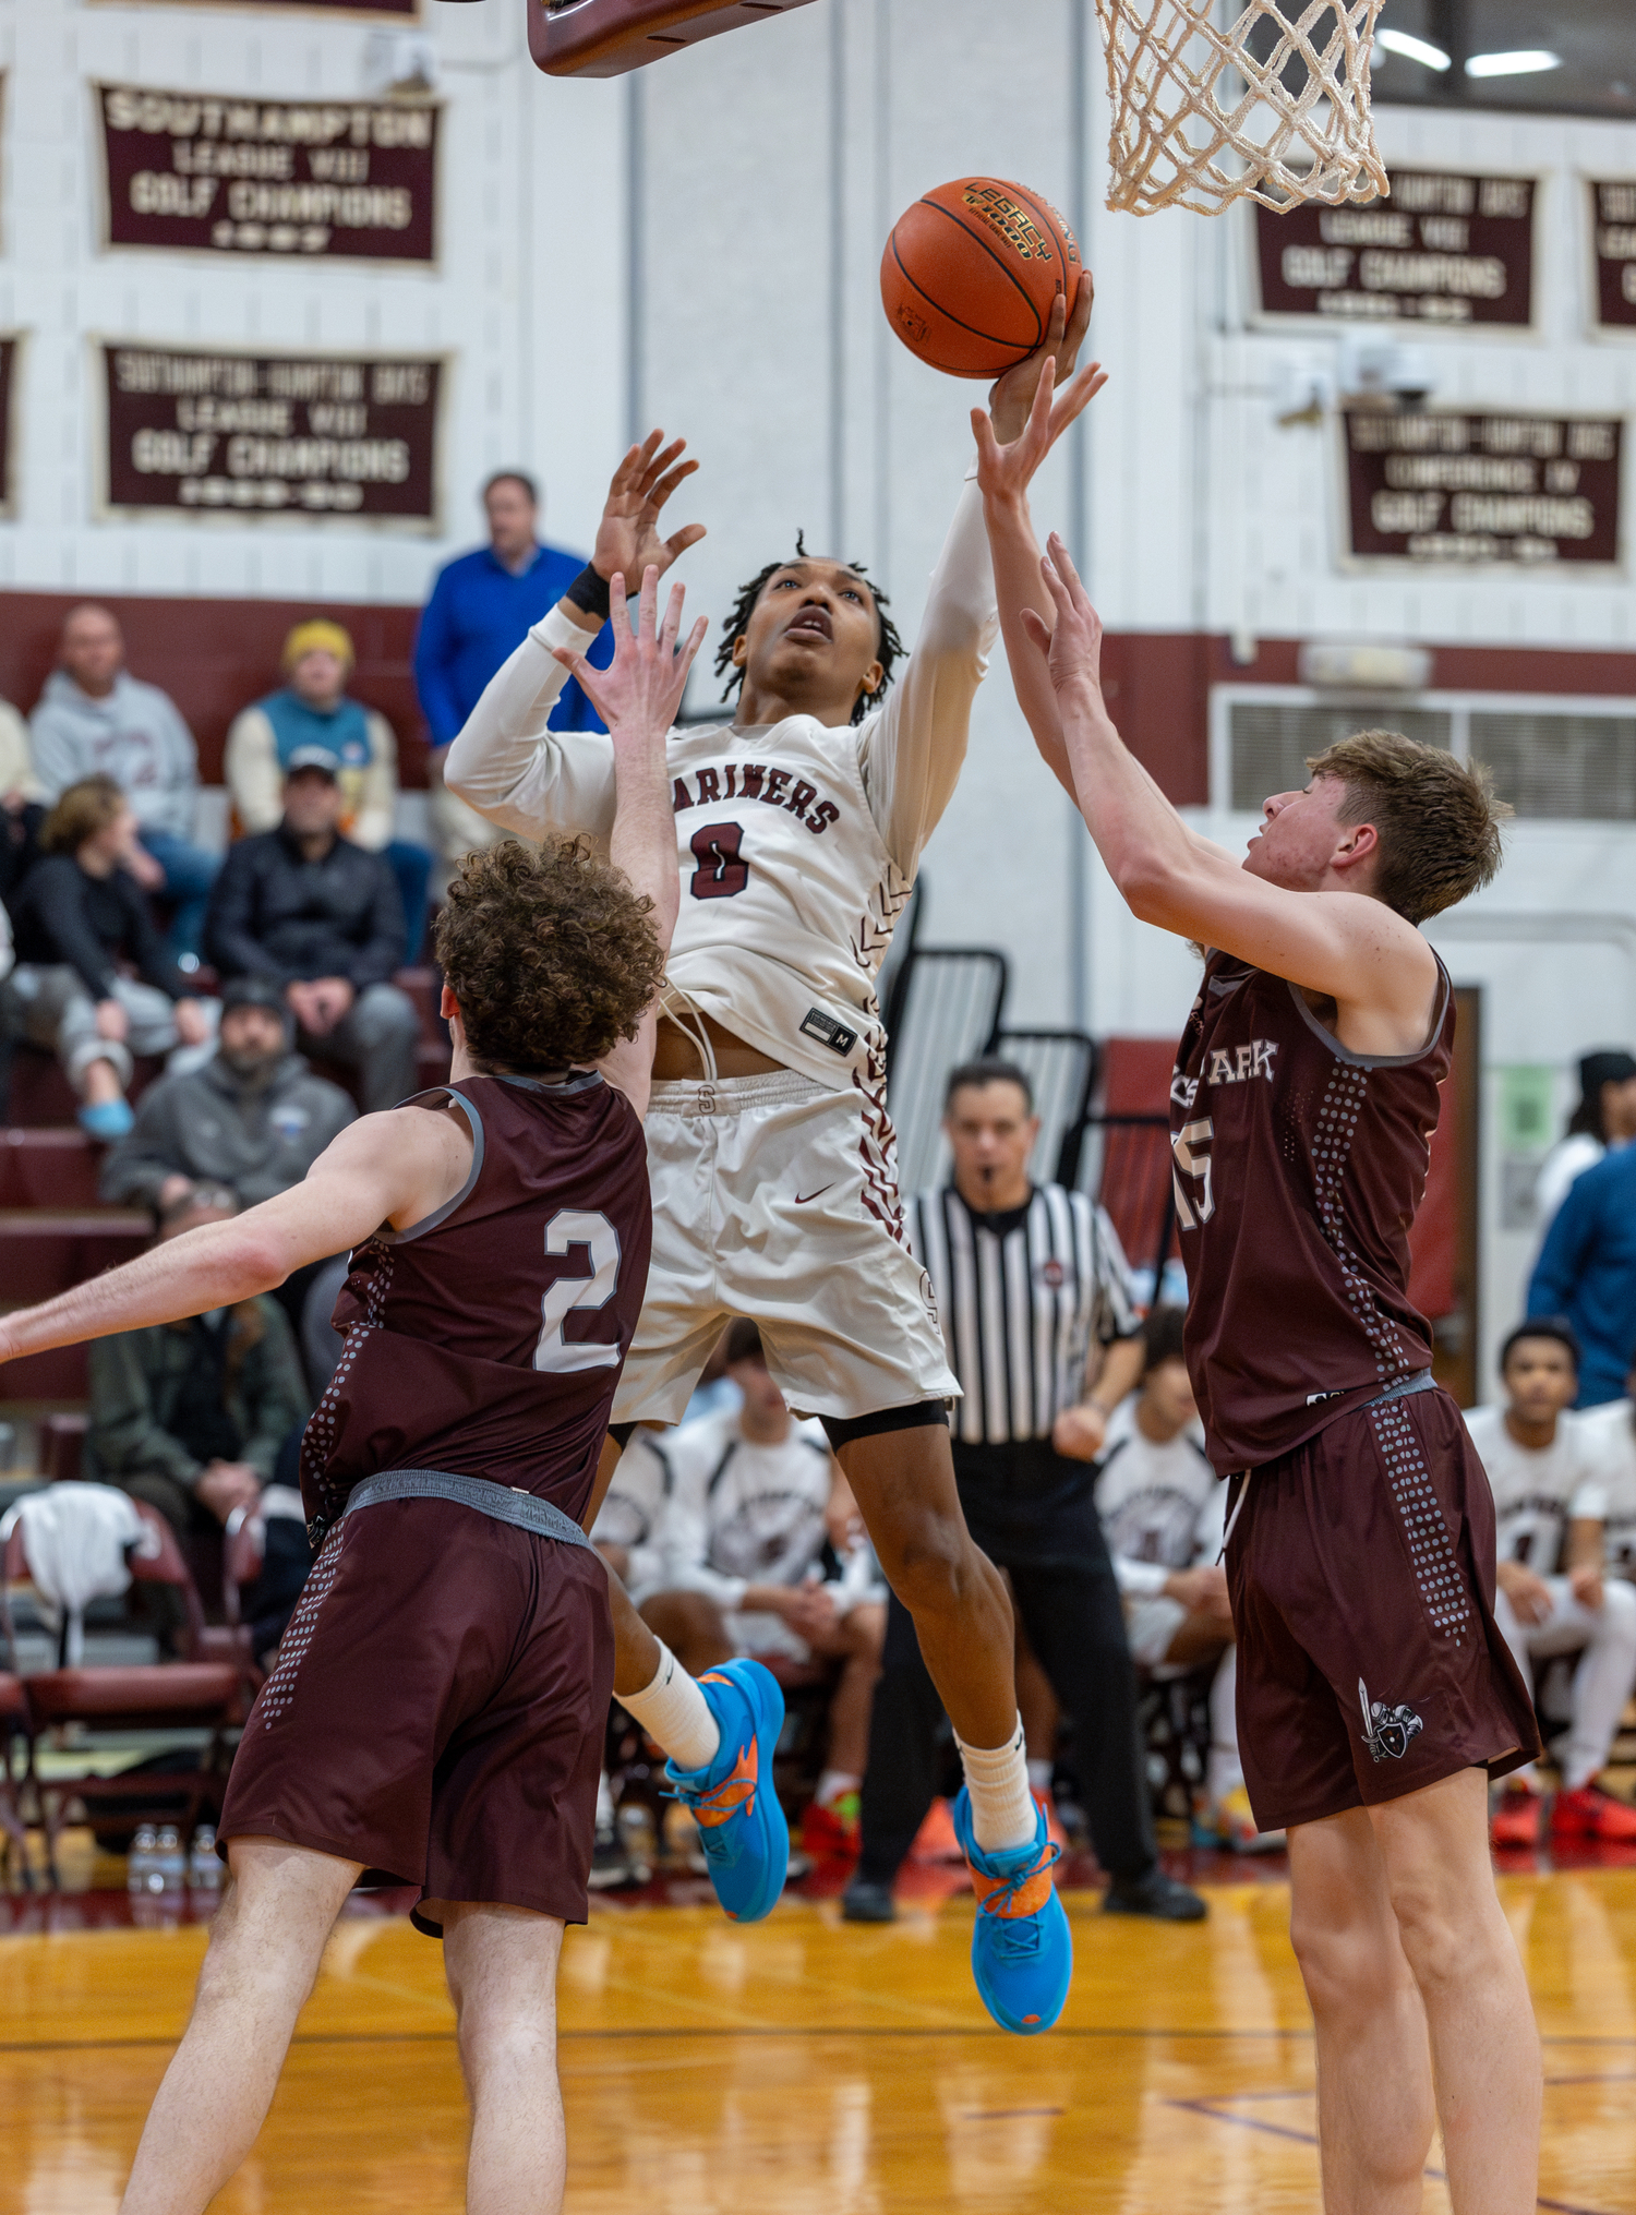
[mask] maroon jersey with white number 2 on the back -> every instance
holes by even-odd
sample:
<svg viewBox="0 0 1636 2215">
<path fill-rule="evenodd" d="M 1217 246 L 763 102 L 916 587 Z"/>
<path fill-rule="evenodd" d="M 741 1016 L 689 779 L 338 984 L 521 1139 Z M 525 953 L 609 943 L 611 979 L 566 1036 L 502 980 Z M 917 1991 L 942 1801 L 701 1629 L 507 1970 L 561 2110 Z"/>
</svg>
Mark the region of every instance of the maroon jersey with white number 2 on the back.
<svg viewBox="0 0 1636 2215">
<path fill-rule="evenodd" d="M 540 1493 L 576 1519 L 642 1309 L 653 1243 L 642 1121 L 596 1074 L 463 1076 L 472 1174 L 352 1256 L 345 1349 L 301 1451 L 325 1522 L 383 1469 Z"/>
</svg>

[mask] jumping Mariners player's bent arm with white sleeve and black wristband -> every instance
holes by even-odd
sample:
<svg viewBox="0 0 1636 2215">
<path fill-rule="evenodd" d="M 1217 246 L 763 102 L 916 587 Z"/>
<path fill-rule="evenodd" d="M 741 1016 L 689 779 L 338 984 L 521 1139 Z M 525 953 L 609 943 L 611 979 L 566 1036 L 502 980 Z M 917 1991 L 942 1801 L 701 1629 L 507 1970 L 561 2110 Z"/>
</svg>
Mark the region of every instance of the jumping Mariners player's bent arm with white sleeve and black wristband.
<svg viewBox="0 0 1636 2215">
<path fill-rule="evenodd" d="M 660 538 L 660 516 L 675 487 L 697 470 L 682 461 L 684 441 L 664 445 L 649 432 L 613 472 L 591 552 L 593 576 L 611 591 L 618 576 L 627 591 L 644 569 L 660 574 L 704 536 L 688 523 Z M 596 589 L 584 594 L 600 598 Z M 536 622 L 516 653 L 489 678 L 483 698 L 449 746 L 443 782 L 505 831 L 522 837 L 589 831 L 613 833 L 613 758 L 602 733 L 547 731 L 547 718 L 567 684 L 580 676 L 582 656 L 602 629 L 607 607 L 580 607 L 565 594 Z M 587 691 L 584 680 L 580 689 Z M 607 720 L 607 718 L 604 718 Z"/>
</svg>

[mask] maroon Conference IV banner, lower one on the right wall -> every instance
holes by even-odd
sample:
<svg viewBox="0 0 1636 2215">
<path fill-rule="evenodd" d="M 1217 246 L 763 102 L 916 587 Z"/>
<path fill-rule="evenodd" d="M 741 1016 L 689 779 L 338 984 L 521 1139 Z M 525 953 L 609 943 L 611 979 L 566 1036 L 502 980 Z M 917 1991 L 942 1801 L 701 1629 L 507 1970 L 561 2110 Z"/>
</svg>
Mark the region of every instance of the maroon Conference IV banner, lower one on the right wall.
<svg viewBox="0 0 1636 2215">
<path fill-rule="evenodd" d="M 1412 410 L 1344 419 L 1357 563 L 1578 563 L 1621 556 L 1618 416 Z"/>
</svg>

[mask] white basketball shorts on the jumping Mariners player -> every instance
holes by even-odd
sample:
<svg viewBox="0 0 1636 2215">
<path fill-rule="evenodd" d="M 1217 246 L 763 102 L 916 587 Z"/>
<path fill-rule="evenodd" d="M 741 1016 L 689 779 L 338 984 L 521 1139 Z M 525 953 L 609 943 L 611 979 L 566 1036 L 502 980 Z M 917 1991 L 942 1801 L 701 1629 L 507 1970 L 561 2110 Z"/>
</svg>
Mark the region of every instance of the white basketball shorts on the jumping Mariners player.
<svg viewBox="0 0 1636 2215">
<path fill-rule="evenodd" d="M 735 1316 L 799 1415 L 959 1398 L 874 1092 L 793 1070 L 655 1085 L 646 1141 L 653 1265 L 615 1422 L 680 1422 Z"/>
</svg>

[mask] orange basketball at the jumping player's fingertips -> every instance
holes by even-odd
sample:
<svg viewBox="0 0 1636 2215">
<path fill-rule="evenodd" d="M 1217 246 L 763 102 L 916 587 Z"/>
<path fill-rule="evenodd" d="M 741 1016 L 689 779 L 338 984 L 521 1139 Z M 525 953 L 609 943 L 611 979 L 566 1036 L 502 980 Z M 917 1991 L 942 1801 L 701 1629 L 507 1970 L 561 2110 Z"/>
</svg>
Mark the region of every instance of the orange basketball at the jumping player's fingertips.
<svg viewBox="0 0 1636 2215">
<path fill-rule="evenodd" d="M 912 354 L 945 377 L 998 377 L 1045 339 L 1052 301 L 1080 288 L 1080 248 L 1025 184 L 956 177 L 923 193 L 881 255 L 881 306 Z"/>
</svg>

